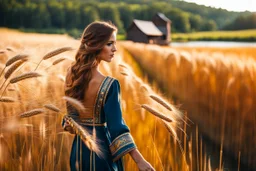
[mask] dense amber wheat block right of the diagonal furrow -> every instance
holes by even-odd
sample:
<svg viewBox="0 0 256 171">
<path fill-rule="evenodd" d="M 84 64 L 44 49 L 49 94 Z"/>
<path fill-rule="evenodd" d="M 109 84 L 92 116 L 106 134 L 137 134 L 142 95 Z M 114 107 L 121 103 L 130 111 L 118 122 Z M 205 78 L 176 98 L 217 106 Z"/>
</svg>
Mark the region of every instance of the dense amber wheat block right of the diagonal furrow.
<svg viewBox="0 0 256 171">
<path fill-rule="evenodd" d="M 180 101 L 199 130 L 221 145 L 221 153 L 256 168 L 255 48 L 171 48 L 128 41 L 122 46 L 166 97 Z"/>
</svg>

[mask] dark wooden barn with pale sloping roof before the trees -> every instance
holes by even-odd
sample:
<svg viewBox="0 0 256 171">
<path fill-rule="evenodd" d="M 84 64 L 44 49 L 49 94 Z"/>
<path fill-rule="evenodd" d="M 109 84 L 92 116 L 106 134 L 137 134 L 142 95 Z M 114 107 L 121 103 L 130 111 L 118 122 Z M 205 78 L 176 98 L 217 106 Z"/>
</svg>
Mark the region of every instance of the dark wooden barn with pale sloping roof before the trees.
<svg viewBox="0 0 256 171">
<path fill-rule="evenodd" d="M 157 13 L 152 21 L 134 19 L 127 29 L 127 40 L 141 43 L 167 45 L 170 43 L 171 20 Z"/>
</svg>

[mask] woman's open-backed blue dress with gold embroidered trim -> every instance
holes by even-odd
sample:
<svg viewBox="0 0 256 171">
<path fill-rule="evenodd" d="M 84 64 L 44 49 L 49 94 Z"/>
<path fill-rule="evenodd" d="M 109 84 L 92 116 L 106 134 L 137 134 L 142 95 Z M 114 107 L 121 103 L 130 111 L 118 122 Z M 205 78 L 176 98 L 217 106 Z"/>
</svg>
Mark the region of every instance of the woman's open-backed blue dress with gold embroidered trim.
<svg viewBox="0 0 256 171">
<path fill-rule="evenodd" d="M 92 134 L 94 125 L 97 140 L 104 152 L 104 157 L 97 156 L 76 135 L 70 155 L 71 171 L 124 170 L 122 156 L 135 149 L 136 145 L 122 118 L 120 100 L 118 80 L 107 76 L 100 85 L 91 115 L 80 116 L 78 112 L 68 107 L 67 116 L 72 117 L 90 134 Z M 65 120 L 63 120 L 62 125 L 64 122 Z"/>
</svg>

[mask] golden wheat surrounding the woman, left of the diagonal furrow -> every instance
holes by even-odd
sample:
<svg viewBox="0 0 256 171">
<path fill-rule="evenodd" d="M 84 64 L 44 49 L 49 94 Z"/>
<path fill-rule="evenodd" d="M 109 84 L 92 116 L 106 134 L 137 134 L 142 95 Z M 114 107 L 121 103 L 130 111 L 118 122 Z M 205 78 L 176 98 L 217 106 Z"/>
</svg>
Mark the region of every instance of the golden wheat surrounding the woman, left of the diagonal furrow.
<svg viewBox="0 0 256 171">
<path fill-rule="evenodd" d="M 0 170 L 69 170 L 73 135 L 61 128 L 64 81 L 79 41 L 8 29 L 0 36 Z M 101 71 L 121 83 L 123 117 L 143 156 L 156 170 L 211 170 L 202 142 L 196 148 L 200 155 L 193 153 L 192 139 L 200 140 L 186 135 L 186 112 L 150 86 L 136 64 L 128 64 L 132 60 L 119 45 Z M 128 155 L 125 168 L 137 170 Z"/>
</svg>

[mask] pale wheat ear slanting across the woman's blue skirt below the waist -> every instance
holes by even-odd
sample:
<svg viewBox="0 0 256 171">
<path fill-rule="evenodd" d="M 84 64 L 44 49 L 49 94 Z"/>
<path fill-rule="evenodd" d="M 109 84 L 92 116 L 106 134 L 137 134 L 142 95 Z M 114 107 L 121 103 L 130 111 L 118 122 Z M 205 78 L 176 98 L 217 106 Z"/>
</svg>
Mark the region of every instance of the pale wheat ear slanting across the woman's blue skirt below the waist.
<svg viewBox="0 0 256 171">
<path fill-rule="evenodd" d="M 98 156 L 102 156 L 103 153 L 100 150 L 98 143 L 92 139 L 92 136 L 82 126 L 69 116 L 65 116 L 64 120 L 73 128 L 75 133 L 80 136 L 90 150 L 94 151 Z"/>
</svg>

